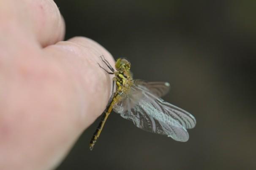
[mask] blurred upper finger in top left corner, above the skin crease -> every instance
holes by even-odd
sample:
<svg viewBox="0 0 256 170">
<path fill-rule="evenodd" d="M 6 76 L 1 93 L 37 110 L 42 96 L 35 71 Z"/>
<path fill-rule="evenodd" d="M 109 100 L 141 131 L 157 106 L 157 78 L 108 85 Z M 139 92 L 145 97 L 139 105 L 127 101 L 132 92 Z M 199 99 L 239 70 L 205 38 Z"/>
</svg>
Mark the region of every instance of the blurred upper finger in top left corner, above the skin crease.
<svg viewBox="0 0 256 170">
<path fill-rule="evenodd" d="M 62 40 L 65 32 L 64 20 L 53 0 L 0 0 L 0 23 L 10 28 L 10 35 L 20 32 L 42 47 Z"/>
</svg>

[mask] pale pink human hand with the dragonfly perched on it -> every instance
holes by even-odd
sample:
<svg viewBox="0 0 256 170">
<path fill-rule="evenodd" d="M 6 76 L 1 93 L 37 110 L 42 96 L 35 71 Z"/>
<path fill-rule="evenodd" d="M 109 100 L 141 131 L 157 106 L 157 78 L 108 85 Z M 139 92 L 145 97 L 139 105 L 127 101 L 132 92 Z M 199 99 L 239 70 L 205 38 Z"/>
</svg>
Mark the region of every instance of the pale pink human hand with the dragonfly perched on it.
<svg viewBox="0 0 256 170">
<path fill-rule="evenodd" d="M 53 169 L 101 115 L 111 54 L 85 37 L 62 41 L 53 0 L 0 0 L 0 169 Z"/>
</svg>

